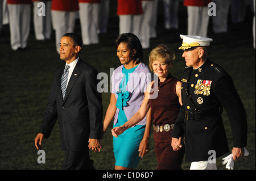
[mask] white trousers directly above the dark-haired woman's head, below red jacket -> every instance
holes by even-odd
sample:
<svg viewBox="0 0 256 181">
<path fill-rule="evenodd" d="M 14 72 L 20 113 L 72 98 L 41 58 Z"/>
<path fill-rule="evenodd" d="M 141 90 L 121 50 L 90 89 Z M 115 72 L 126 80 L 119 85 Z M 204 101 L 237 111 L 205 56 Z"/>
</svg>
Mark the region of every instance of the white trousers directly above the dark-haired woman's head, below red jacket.
<svg viewBox="0 0 256 181">
<path fill-rule="evenodd" d="M 133 33 L 141 40 L 142 15 L 119 15 L 119 34 Z"/>
</svg>

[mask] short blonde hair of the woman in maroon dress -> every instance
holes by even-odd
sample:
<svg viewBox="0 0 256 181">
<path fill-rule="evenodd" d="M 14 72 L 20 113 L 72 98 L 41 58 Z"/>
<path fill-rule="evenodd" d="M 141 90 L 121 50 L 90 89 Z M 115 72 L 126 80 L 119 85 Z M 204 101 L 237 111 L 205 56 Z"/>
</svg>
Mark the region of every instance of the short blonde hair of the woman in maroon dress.
<svg viewBox="0 0 256 181">
<path fill-rule="evenodd" d="M 174 64 L 175 53 L 172 50 L 170 50 L 167 47 L 167 45 L 160 44 L 154 49 L 152 49 L 149 55 L 149 67 L 152 72 L 153 72 L 152 64 L 156 60 L 167 64 L 170 70 L 172 68 L 172 65 Z"/>
</svg>

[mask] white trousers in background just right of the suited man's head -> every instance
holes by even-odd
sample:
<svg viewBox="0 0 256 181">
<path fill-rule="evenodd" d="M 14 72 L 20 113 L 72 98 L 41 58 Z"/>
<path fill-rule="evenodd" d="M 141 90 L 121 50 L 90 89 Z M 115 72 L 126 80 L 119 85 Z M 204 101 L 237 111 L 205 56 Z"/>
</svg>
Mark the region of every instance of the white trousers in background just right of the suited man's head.
<svg viewBox="0 0 256 181">
<path fill-rule="evenodd" d="M 79 3 L 79 8 L 82 43 L 84 45 L 97 44 L 100 4 Z"/>
</svg>

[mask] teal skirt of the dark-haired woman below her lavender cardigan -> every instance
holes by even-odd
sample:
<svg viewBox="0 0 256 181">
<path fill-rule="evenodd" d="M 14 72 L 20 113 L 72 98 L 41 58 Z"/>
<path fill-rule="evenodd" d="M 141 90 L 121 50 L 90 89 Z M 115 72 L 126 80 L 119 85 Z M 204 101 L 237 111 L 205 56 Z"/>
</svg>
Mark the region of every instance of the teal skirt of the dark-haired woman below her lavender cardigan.
<svg viewBox="0 0 256 181">
<path fill-rule="evenodd" d="M 118 121 L 113 127 L 119 127 L 127 121 L 125 112 L 119 110 Z M 139 157 L 139 144 L 143 138 L 146 125 L 135 125 L 113 137 L 115 165 L 136 169 L 141 157 Z"/>
</svg>

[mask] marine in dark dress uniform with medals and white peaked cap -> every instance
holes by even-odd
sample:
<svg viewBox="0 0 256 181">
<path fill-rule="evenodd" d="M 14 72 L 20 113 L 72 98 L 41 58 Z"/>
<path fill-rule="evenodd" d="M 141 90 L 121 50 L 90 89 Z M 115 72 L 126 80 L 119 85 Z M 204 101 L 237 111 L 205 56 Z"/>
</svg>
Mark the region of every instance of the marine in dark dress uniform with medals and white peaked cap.
<svg viewBox="0 0 256 181">
<path fill-rule="evenodd" d="M 216 157 L 229 151 L 222 110 L 225 108 L 233 132 L 232 153 L 240 150 L 241 155 L 236 157 L 239 158 L 247 144 L 245 108 L 232 77 L 208 58 L 207 47 L 212 39 L 201 36 L 180 37 L 183 44 L 179 49 L 184 50 L 183 57 L 188 67 L 181 79 L 183 106 L 172 132 L 172 147 L 175 150 L 175 140 L 184 136 L 186 160 L 192 162 L 191 169 L 202 169 L 197 167 L 197 163 L 203 164 L 203 169 L 217 169 L 216 163 L 208 164 L 208 151 L 216 151 Z"/>
</svg>

